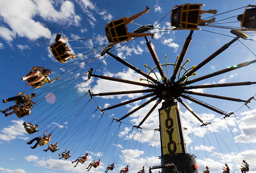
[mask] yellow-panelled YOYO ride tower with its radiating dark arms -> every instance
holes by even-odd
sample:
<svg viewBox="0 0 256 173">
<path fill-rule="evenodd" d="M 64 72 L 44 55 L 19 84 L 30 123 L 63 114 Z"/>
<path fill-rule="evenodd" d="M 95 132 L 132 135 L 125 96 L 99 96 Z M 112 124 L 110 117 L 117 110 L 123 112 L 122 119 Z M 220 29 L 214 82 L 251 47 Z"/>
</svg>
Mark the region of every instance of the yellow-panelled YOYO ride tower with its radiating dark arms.
<svg viewBox="0 0 256 173">
<path fill-rule="evenodd" d="M 143 28 L 145 28 L 147 31 L 151 29 L 151 27 L 149 28 L 149 27 L 143 26 L 142 28 L 138 28 L 138 30 L 139 31 L 140 29 L 143 30 Z M 123 117 L 121 117 L 117 121 L 121 121 L 129 117 L 129 115 L 147 106 L 149 103 L 155 102 L 154 106 L 145 115 L 145 117 L 142 119 L 139 125 L 134 125 L 134 127 L 136 128 L 141 128 L 140 126 L 144 123 L 144 121 L 149 117 L 149 115 L 154 111 L 154 109 L 156 109 L 156 107 L 158 107 L 158 105 L 162 102 L 162 106 L 159 109 L 159 129 L 158 129 L 160 131 L 160 138 L 161 138 L 161 156 L 160 156 L 161 165 L 149 167 L 149 173 L 152 173 L 151 170 L 153 169 L 161 169 L 162 173 L 180 173 L 180 172 L 181 173 L 197 173 L 198 172 L 195 156 L 191 155 L 190 153 L 187 153 L 186 151 L 185 141 L 183 137 L 183 126 L 182 126 L 179 103 L 181 103 L 183 107 L 185 107 L 194 117 L 197 118 L 197 120 L 199 120 L 202 123 L 201 126 L 206 126 L 210 123 L 204 123 L 203 120 L 182 100 L 182 98 L 187 99 L 188 101 L 196 103 L 200 106 L 203 106 L 207 109 L 210 109 L 216 113 L 224 115 L 224 118 L 229 117 L 234 113 L 232 112 L 226 113 L 223 110 L 220 110 L 214 106 L 211 106 L 190 95 L 193 94 L 193 95 L 203 96 L 203 97 L 217 98 L 217 99 L 223 99 L 223 100 L 229 100 L 229 101 L 235 101 L 235 102 L 244 102 L 245 104 L 250 103 L 250 98 L 248 100 L 242 100 L 239 98 L 218 96 L 215 94 L 199 93 L 191 90 L 197 89 L 197 88 L 217 88 L 217 87 L 252 85 L 252 84 L 255 84 L 256 82 L 235 82 L 235 83 L 193 85 L 193 86 L 191 84 L 198 81 L 202 81 L 204 79 L 210 79 L 211 77 L 224 74 L 226 72 L 230 72 L 232 70 L 235 70 L 241 67 L 248 66 L 250 64 L 255 63 L 256 60 L 234 65 L 232 67 L 227 67 L 226 69 L 222 69 L 212 74 L 208 74 L 202 77 L 198 77 L 196 79 L 188 80 L 189 77 L 196 76 L 197 70 L 199 70 L 201 67 L 206 65 L 210 60 L 212 60 L 213 58 L 218 56 L 220 53 L 222 53 L 224 50 L 226 50 L 231 44 L 236 42 L 236 40 L 238 40 L 239 38 L 246 40 L 247 36 L 241 31 L 238 31 L 237 29 L 232 29 L 230 32 L 236 36 L 235 38 L 230 40 L 230 42 L 224 44 L 222 47 L 220 47 L 218 50 L 216 50 L 214 53 L 208 56 L 205 60 L 203 60 L 197 66 L 193 65 L 190 69 L 186 69 L 185 65 L 190 60 L 187 59 L 185 63 L 183 63 L 183 65 L 182 65 L 182 62 L 183 62 L 183 59 L 185 58 L 186 52 L 191 43 L 193 31 L 194 30 L 190 30 L 190 33 L 188 34 L 188 37 L 185 40 L 181 53 L 180 55 L 177 56 L 175 63 L 167 63 L 167 59 L 166 59 L 166 63 L 161 64 L 155 52 L 153 44 L 149 41 L 147 37 L 145 37 L 146 45 L 156 65 L 156 67 L 154 67 L 153 69 L 150 69 L 150 67 L 148 67 L 146 64 L 144 65 L 146 68 L 149 69 L 148 74 L 138 69 L 137 67 L 133 66 L 132 64 L 128 63 L 127 61 L 123 60 L 122 58 L 111 53 L 110 49 L 113 47 L 112 44 L 109 44 L 105 49 L 102 50 L 102 52 L 100 53 L 101 56 L 108 54 L 112 56 L 114 59 L 116 59 L 119 63 L 129 67 L 130 69 L 134 70 L 138 74 L 145 77 L 145 79 L 141 78 L 140 82 L 126 80 L 126 79 L 119 79 L 119 78 L 109 77 L 109 76 L 103 76 L 103 75 L 96 75 L 95 72 L 93 72 L 93 69 L 90 69 L 88 72 L 88 79 L 90 79 L 90 77 L 92 76 L 92 77 L 97 77 L 97 78 L 108 80 L 108 81 L 115 81 L 115 82 L 126 83 L 128 85 L 137 85 L 137 86 L 146 87 L 146 89 L 143 89 L 143 90 L 115 91 L 115 92 L 105 92 L 105 93 L 91 93 L 90 90 L 88 91 L 91 98 L 93 96 L 110 96 L 110 95 L 119 95 L 119 94 L 144 93 L 143 96 L 141 97 L 130 99 L 128 101 L 121 102 L 119 104 L 109 106 L 101 110 L 101 111 L 110 110 L 113 108 L 124 106 L 126 104 L 130 104 L 130 103 L 137 102 L 147 98 L 147 101 L 142 103 L 140 106 L 134 108 L 133 110 L 128 112 L 126 115 L 123 115 Z M 169 77 L 169 74 L 168 74 L 168 68 L 167 68 L 168 65 L 171 65 L 174 67 L 171 77 Z M 164 70 L 162 69 L 162 66 L 166 66 L 167 76 L 165 75 Z M 156 76 L 154 72 L 155 69 L 159 72 L 161 76 L 161 81 Z M 181 74 L 182 71 L 183 72 L 185 71 L 185 72 Z M 141 81 L 146 81 L 146 82 L 141 82 Z M 119 88 L 119 89 L 122 89 L 122 88 Z"/>
</svg>

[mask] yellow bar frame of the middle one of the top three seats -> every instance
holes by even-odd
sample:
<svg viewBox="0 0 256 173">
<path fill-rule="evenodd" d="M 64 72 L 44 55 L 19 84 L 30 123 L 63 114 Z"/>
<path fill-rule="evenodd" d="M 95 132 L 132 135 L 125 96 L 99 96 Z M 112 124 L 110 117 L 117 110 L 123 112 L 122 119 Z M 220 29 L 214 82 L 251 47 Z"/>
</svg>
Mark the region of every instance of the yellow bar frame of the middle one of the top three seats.
<svg viewBox="0 0 256 173">
<path fill-rule="evenodd" d="M 198 6 L 197 9 L 190 9 L 190 6 Z M 187 9 L 184 9 L 185 6 L 187 6 Z M 201 6 L 204 6 L 204 4 L 182 4 L 182 5 L 176 5 L 175 7 L 172 8 L 172 13 L 171 13 L 171 26 L 173 29 L 175 30 L 178 30 L 178 29 L 190 29 L 190 30 L 198 30 L 200 28 L 198 28 L 198 23 L 199 23 L 199 18 L 200 18 L 200 15 L 199 15 L 199 12 L 198 12 L 198 15 L 197 15 L 197 20 L 196 22 L 190 22 L 188 21 L 188 18 L 190 16 L 190 13 L 191 12 L 194 12 L 194 11 L 200 11 L 200 8 Z M 173 23 L 173 18 L 174 18 L 174 10 L 181 7 L 181 13 L 180 13 L 180 20 L 179 20 L 179 25 L 180 25 L 180 28 L 176 28 L 175 26 L 172 25 Z M 185 17 L 183 17 L 185 16 Z M 185 21 L 182 21 L 182 19 L 185 19 Z M 190 26 L 190 27 L 188 27 Z M 191 27 L 193 26 L 193 27 Z"/>
</svg>

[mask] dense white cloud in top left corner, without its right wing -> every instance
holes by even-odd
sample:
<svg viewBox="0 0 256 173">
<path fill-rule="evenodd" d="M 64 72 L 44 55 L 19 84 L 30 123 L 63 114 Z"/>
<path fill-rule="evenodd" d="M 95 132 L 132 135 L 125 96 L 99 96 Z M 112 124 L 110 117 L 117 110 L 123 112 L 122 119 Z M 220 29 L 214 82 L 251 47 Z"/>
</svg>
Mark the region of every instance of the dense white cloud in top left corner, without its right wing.
<svg viewBox="0 0 256 173">
<path fill-rule="evenodd" d="M 38 7 L 31 0 L 0 1 L 0 15 L 11 29 L 4 39 L 11 41 L 15 34 L 28 39 L 50 38 L 50 30 L 32 18 L 38 14 Z M 22 14 L 22 15 L 20 15 Z M 24 25 L 26 23 L 26 25 Z M 5 31 L 7 31 L 5 29 Z M 10 32 L 11 31 L 11 32 Z"/>
</svg>

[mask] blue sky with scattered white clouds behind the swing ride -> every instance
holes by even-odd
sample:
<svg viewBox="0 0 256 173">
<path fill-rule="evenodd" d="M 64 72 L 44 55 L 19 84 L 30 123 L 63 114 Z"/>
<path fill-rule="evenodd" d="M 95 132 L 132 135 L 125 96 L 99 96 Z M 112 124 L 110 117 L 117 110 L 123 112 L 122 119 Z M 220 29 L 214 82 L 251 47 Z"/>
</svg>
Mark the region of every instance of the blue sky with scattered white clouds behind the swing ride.
<svg viewBox="0 0 256 173">
<path fill-rule="evenodd" d="M 142 166 L 145 166 L 148 170 L 148 166 L 160 164 L 158 159 L 158 156 L 161 155 L 160 135 L 158 131 L 155 132 L 154 137 L 154 129 L 159 126 L 159 107 L 142 125 L 141 133 L 139 129 L 135 128 L 131 131 L 132 125 L 138 125 L 155 103 L 151 103 L 130 115 L 122 120 L 121 124 L 116 121 L 111 124 L 114 117 L 121 118 L 145 101 L 107 110 L 103 115 L 97 109 L 97 106 L 106 108 L 142 95 L 95 97 L 91 100 L 88 94 L 85 95 L 89 89 L 93 93 L 101 93 L 143 90 L 145 87 L 120 84 L 97 78 L 87 80 L 87 71 L 93 68 L 96 75 L 139 82 L 139 79 L 142 78 L 141 75 L 128 69 L 109 55 L 99 57 L 99 51 L 108 44 L 104 31 L 108 22 L 122 17 L 130 17 L 134 13 L 143 11 L 147 5 L 151 10 L 135 20 L 134 23 L 129 24 L 128 29 L 133 32 L 140 25 L 155 25 L 162 19 L 155 27 L 159 29 L 150 31 L 155 32 L 155 38 L 151 42 L 155 47 L 160 63 L 165 63 L 165 55 L 167 55 L 168 63 L 175 63 L 176 56 L 180 54 L 189 31 L 161 31 L 166 31 L 162 29 L 171 28 L 170 13 L 165 18 L 164 16 L 175 5 L 185 3 L 187 1 L 183 0 L 169 2 L 114 0 L 111 3 L 103 0 L 0 1 L 1 99 L 15 96 L 19 92 L 25 92 L 26 94 L 36 92 L 37 94 L 36 98 L 33 99 L 37 104 L 32 109 L 29 117 L 18 119 L 16 115 L 9 117 L 1 115 L 0 171 L 3 173 L 81 172 L 91 161 L 99 158 L 102 159 L 101 165 L 96 169 L 92 168 L 90 172 L 103 172 L 106 165 L 113 161 L 116 162 L 116 168 L 112 172 L 119 172 L 127 164 L 129 164 L 132 173 L 138 172 L 142 169 Z M 223 13 L 247 6 L 246 3 L 256 4 L 256 1 L 245 3 L 231 0 L 194 0 L 190 3 L 203 3 L 205 6 L 202 7 L 202 10 L 217 9 L 218 13 Z M 216 20 L 239 15 L 244 10 L 245 8 L 242 8 L 224 13 L 216 16 Z M 202 18 L 210 16 L 212 15 L 203 14 Z M 233 17 L 224 22 L 235 21 L 236 18 Z M 224 23 L 223 25 L 238 27 L 240 23 Z M 229 29 L 201 28 L 202 30 L 193 33 L 190 48 L 185 56 L 185 59 L 190 59 L 190 62 L 185 66 L 187 69 L 192 65 L 201 63 L 234 37 Z M 84 56 L 61 64 L 54 59 L 49 49 L 58 33 L 69 40 L 93 39 L 70 41 L 71 47 L 77 48 L 74 49 L 75 53 Z M 252 32 L 249 38 L 255 39 L 255 32 Z M 198 70 L 196 77 L 254 60 L 256 43 L 251 40 L 239 40 L 248 49 L 241 42 L 235 42 Z M 111 49 L 113 50 L 112 53 L 146 73 L 148 69 L 144 67 L 144 64 L 147 64 L 150 68 L 155 67 L 144 38 L 137 38 L 126 43 L 115 45 Z M 62 79 L 45 85 L 43 88 L 33 90 L 20 79 L 31 70 L 32 66 L 44 66 L 47 69 L 52 69 L 50 77 L 52 79 L 62 77 Z M 171 76 L 173 69 L 171 66 L 168 68 L 169 76 Z M 163 69 L 167 75 L 166 67 L 164 66 Z M 156 74 L 159 77 L 159 74 Z M 196 85 L 255 81 L 254 74 L 255 64 L 251 64 L 197 82 Z M 209 88 L 197 90 L 197 92 L 243 100 L 247 100 L 256 94 L 255 85 Z M 236 115 L 223 119 L 222 115 L 183 99 L 204 122 L 212 123 L 212 126 L 208 125 L 201 128 L 201 123 L 180 105 L 183 127 L 188 129 L 184 131 L 187 151 L 197 156 L 198 172 L 202 172 L 206 166 L 213 173 L 222 172 L 225 163 L 230 166 L 233 172 L 240 168 L 242 160 L 246 160 L 250 164 L 250 172 L 256 172 L 254 166 L 256 162 L 254 140 L 256 130 L 254 123 L 256 120 L 255 100 L 248 104 L 250 107 L 248 109 L 239 102 L 234 103 L 200 96 L 197 98 L 227 113 L 235 112 Z M 14 105 L 14 102 L 1 103 L 0 109 L 4 110 L 12 105 Z M 24 121 L 39 124 L 39 132 L 32 135 L 27 134 L 22 126 Z M 95 123 L 98 123 L 98 125 L 95 125 Z M 120 129 L 117 136 L 116 131 L 119 124 Z M 47 129 L 48 133 L 53 133 L 52 142 L 59 142 L 59 152 L 51 153 L 48 151 L 45 153 L 43 149 L 46 149 L 46 146 L 38 146 L 32 150 L 26 144 L 32 138 L 42 135 Z M 91 136 L 91 134 L 94 135 Z M 114 142 L 114 139 L 117 139 L 117 141 Z M 126 139 L 128 140 L 125 143 Z M 102 144 L 104 145 L 102 146 Z M 115 152 L 112 154 L 113 148 Z M 58 153 L 66 149 L 71 150 L 71 158 L 66 161 L 58 160 Z M 74 164 L 71 163 L 71 160 L 74 161 L 86 152 L 89 153 L 89 159 L 84 164 L 78 164 L 76 168 L 73 168 Z"/>
</svg>

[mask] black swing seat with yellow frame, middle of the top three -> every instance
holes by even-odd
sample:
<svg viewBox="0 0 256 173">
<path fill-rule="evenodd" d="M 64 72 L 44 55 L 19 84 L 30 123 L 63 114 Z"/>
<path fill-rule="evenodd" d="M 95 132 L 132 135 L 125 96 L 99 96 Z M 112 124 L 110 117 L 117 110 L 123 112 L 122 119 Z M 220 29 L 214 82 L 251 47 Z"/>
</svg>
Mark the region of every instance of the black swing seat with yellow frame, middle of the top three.
<svg viewBox="0 0 256 173">
<path fill-rule="evenodd" d="M 171 27 L 174 29 L 197 30 L 199 23 L 199 11 L 204 4 L 183 4 L 172 8 Z"/>
</svg>

